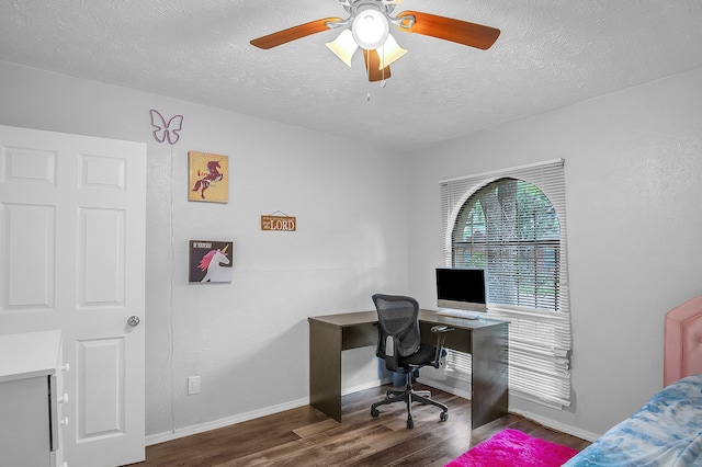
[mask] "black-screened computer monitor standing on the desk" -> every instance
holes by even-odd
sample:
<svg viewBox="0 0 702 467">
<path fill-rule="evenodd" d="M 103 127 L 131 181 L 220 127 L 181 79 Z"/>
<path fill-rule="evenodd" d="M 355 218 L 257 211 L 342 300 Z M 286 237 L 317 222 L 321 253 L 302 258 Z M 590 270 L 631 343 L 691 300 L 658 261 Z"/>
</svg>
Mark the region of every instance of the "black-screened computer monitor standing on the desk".
<svg viewBox="0 0 702 467">
<path fill-rule="evenodd" d="M 440 308 L 485 311 L 485 271 L 438 267 L 437 298 Z"/>
</svg>

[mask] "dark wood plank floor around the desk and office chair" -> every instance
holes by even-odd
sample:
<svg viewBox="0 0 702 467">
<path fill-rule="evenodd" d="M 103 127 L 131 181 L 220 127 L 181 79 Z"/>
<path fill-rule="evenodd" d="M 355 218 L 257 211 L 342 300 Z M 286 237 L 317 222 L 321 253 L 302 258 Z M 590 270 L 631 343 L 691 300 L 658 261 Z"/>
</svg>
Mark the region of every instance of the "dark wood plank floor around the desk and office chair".
<svg viewBox="0 0 702 467">
<path fill-rule="evenodd" d="M 506 428 L 578 451 L 590 444 L 512 414 L 471 431 L 471 401 L 435 389 L 432 397 L 449 406 L 449 420 L 440 422 L 437 408 L 415 406 L 415 429 L 407 430 L 401 403 L 381 407 L 378 418 L 370 414 L 387 388 L 344 396 L 341 423 L 302 407 L 149 446 L 146 462 L 133 466 L 441 467 Z"/>
</svg>

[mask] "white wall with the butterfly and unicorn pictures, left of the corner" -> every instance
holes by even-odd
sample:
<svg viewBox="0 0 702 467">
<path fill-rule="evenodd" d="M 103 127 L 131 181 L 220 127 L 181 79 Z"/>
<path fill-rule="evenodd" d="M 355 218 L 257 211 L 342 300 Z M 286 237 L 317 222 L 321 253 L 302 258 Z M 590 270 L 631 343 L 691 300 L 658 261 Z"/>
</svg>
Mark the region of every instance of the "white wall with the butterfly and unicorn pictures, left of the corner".
<svg viewBox="0 0 702 467">
<path fill-rule="evenodd" d="M 306 318 L 406 293 L 405 158 L 7 62 L 0 78 L 0 124 L 148 145 L 147 435 L 305 403 Z M 149 109 L 184 115 L 176 146 L 154 139 Z M 186 201 L 188 150 L 229 156 L 228 204 Z M 276 210 L 297 217 L 296 232 L 260 230 L 260 216 Z M 191 239 L 234 240 L 231 284 L 188 284 Z M 344 384 L 377 379 L 366 354 L 349 355 Z M 190 375 L 202 377 L 200 395 L 186 395 Z"/>
</svg>

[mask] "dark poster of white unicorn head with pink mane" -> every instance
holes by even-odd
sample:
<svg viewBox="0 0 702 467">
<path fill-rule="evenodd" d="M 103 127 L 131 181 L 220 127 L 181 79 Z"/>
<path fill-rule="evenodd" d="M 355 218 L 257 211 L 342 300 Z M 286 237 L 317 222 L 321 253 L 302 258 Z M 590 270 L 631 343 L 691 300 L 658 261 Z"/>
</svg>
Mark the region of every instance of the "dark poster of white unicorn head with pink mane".
<svg viewBox="0 0 702 467">
<path fill-rule="evenodd" d="M 234 242 L 190 240 L 190 282 L 231 282 Z"/>
</svg>

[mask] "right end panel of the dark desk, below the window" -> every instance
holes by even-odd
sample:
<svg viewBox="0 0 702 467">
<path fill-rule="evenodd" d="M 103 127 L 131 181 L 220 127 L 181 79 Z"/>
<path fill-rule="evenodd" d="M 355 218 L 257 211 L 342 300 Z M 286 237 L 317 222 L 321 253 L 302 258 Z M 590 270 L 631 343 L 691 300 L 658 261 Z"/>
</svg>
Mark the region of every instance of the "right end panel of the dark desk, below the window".
<svg viewBox="0 0 702 467">
<path fill-rule="evenodd" d="M 473 400 L 471 428 L 507 414 L 508 329 L 505 326 L 473 330 Z"/>
</svg>

